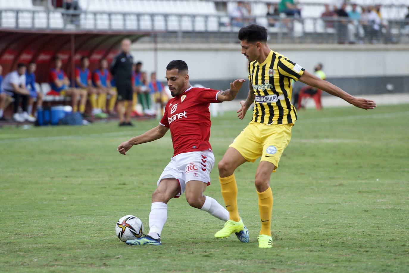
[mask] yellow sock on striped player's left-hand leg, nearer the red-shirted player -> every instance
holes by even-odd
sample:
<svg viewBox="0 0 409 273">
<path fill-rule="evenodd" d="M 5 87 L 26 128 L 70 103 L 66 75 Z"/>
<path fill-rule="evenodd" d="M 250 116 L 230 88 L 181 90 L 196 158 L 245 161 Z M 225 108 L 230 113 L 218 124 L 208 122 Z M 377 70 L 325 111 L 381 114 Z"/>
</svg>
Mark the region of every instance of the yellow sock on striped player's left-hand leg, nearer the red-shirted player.
<svg viewBox="0 0 409 273">
<path fill-rule="evenodd" d="M 240 221 L 240 216 L 238 215 L 237 184 L 234 174 L 227 177 L 219 177 L 219 181 L 226 210 L 229 212 L 229 219 L 238 222 Z"/>
</svg>

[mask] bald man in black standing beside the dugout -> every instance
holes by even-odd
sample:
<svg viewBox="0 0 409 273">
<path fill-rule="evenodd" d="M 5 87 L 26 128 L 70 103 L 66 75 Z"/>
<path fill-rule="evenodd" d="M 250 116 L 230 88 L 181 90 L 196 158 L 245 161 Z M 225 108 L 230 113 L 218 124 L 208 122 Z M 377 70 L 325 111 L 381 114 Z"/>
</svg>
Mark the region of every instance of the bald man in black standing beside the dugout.
<svg viewBox="0 0 409 273">
<path fill-rule="evenodd" d="M 122 52 L 119 53 L 111 63 L 110 71 L 114 76 L 115 85 L 118 92 L 118 115 L 119 126 L 133 126 L 130 122 L 132 112 L 132 65 L 133 57 L 129 53 L 130 40 L 124 39 L 121 42 Z M 124 101 L 128 101 L 128 106 L 124 108 Z M 124 119 L 124 112 L 126 112 Z"/>
</svg>

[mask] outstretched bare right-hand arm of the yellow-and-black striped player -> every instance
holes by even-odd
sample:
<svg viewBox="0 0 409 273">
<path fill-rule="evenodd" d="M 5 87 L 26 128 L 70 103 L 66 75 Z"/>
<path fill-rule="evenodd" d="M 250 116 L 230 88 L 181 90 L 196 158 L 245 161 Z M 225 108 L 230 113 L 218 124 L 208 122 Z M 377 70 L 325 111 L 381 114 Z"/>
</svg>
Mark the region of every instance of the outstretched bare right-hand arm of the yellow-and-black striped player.
<svg viewBox="0 0 409 273">
<path fill-rule="evenodd" d="M 376 107 L 376 103 L 374 101 L 349 95 L 348 93 L 346 93 L 344 90 L 342 90 L 338 86 L 335 86 L 328 81 L 321 80 L 318 77 L 315 77 L 313 74 L 311 74 L 308 71 L 304 71 L 299 81 L 309 86 L 313 86 L 315 88 L 324 90 L 325 92 L 333 96 L 340 97 L 344 101 L 349 102 L 350 104 L 358 108 L 368 110 L 368 109 L 373 109 Z"/>
</svg>

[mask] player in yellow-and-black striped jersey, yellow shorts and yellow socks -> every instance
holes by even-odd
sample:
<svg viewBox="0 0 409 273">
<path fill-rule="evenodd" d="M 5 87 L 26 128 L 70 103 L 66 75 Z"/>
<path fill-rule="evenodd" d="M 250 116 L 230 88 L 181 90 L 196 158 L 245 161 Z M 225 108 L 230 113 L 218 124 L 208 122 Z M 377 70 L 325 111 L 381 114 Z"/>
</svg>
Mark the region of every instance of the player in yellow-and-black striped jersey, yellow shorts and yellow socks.
<svg viewBox="0 0 409 273">
<path fill-rule="evenodd" d="M 254 103 L 253 119 L 237 136 L 218 163 L 219 180 L 229 221 L 216 232 L 216 238 L 228 237 L 243 228 L 237 208 L 237 185 L 234 170 L 244 162 L 260 158 L 254 184 L 258 194 L 261 230 L 258 247 L 271 248 L 271 214 L 273 195 L 270 176 L 278 167 L 280 157 L 291 139 L 291 128 L 297 120 L 292 106 L 291 80 L 340 97 L 356 107 L 373 109 L 375 102 L 353 97 L 341 88 L 323 81 L 285 56 L 270 50 L 267 45 L 267 29 L 259 25 L 248 25 L 238 32 L 241 53 L 249 60 L 249 94 L 240 102 L 238 118 L 243 120 Z"/>
</svg>

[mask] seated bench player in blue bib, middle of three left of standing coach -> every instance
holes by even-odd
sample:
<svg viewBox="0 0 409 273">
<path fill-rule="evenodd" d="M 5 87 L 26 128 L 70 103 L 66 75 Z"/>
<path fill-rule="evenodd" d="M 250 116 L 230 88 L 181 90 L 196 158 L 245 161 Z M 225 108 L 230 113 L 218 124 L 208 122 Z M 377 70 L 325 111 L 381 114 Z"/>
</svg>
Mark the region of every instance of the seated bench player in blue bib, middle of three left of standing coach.
<svg viewBox="0 0 409 273">
<path fill-rule="evenodd" d="M 91 72 L 89 70 L 90 60 L 88 57 L 81 58 L 81 66 L 75 68 L 75 88 L 79 89 L 80 92 L 85 92 L 89 96 L 92 115 L 94 117 L 106 118 L 108 115 L 102 112 L 102 109 L 98 108 L 97 102 L 97 89 L 92 86 Z"/>
</svg>

